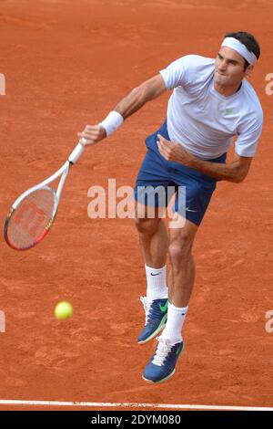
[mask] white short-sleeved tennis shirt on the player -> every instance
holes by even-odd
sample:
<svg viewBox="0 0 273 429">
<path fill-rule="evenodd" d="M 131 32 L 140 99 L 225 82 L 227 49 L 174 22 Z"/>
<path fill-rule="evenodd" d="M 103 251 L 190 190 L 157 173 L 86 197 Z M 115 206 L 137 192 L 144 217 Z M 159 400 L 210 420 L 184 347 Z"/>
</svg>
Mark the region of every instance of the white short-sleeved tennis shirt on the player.
<svg viewBox="0 0 273 429">
<path fill-rule="evenodd" d="M 263 110 L 248 80 L 225 97 L 214 88 L 215 59 L 198 55 L 178 58 L 160 70 L 167 89 L 174 89 L 167 105 L 167 131 L 198 158 L 209 160 L 235 150 L 252 157 L 262 131 Z"/>
</svg>

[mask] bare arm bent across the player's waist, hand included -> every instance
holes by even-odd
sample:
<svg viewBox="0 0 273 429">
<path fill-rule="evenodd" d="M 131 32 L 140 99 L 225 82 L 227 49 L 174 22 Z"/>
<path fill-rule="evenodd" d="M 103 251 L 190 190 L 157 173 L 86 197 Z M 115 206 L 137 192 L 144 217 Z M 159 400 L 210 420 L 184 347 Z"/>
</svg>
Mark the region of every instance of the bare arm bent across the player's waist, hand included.
<svg viewBox="0 0 273 429">
<path fill-rule="evenodd" d="M 159 134 L 157 145 L 159 152 L 167 161 L 179 162 L 217 180 L 233 183 L 240 183 L 245 179 L 252 161 L 251 157 L 239 156 L 237 153 L 232 162 L 228 163 L 203 161 L 188 153 L 181 144 L 167 141 Z"/>
</svg>

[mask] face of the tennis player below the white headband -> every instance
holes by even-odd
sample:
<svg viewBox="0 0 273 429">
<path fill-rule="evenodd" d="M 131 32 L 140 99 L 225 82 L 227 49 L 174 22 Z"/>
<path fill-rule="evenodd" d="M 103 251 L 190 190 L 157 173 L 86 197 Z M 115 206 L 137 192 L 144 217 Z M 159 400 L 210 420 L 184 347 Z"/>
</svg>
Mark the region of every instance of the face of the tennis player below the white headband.
<svg viewBox="0 0 273 429">
<path fill-rule="evenodd" d="M 238 85 L 246 76 L 245 59 L 230 47 L 221 47 L 215 62 L 215 82 L 223 87 Z"/>
</svg>

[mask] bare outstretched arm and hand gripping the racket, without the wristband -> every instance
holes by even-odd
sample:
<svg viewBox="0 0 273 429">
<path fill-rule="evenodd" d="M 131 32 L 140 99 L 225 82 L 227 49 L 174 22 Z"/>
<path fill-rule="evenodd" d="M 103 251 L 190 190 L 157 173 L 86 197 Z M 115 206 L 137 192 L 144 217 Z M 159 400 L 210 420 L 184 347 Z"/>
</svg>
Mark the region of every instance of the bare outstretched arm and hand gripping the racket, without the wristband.
<svg viewBox="0 0 273 429">
<path fill-rule="evenodd" d="M 141 109 L 147 101 L 157 99 L 166 91 L 164 80 L 160 74 L 143 82 L 139 87 L 132 89 L 128 95 L 116 105 L 114 111 L 125 120 L 130 115 Z M 95 144 L 106 138 L 106 130 L 100 125 L 86 125 L 83 132 L 78 132 L 80 138 L 85 138 L 85 145 Z"/>
</svg>

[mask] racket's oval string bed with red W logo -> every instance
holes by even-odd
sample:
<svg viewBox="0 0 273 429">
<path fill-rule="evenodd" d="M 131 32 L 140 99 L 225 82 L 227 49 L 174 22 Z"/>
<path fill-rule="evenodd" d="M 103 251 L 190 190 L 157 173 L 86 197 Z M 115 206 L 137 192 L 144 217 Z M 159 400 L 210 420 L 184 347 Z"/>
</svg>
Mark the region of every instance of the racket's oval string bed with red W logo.
<svg viewBox="0 0 273 429">
<path fill-rule="evenodd" d="M 28 194 L 11 215 L 7 239 L 11 246 L 25 249 L 38 243 L 53 222 L 56 194 L 49 188 Z"/>
</svg>

